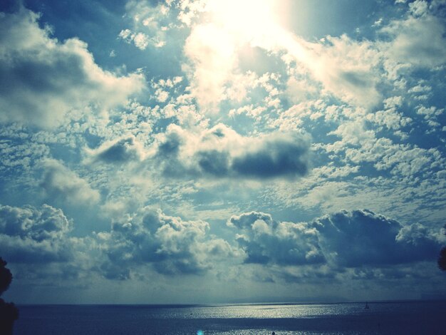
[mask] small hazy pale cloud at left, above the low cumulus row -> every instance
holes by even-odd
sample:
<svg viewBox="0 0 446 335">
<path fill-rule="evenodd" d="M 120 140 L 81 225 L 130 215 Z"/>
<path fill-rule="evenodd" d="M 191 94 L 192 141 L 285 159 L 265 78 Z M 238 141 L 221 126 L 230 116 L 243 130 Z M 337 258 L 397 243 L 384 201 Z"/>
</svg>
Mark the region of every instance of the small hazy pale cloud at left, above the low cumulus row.
<svg viewBox="0 0 446 335">
<path fill-rule="evenodd" d="M 52 200 L 64 200 L 71 205 L 92 205 L 100 200 L 97 190 L 58 160 L 44 160 L 41 167 L 41 187 Z"/>
</svg>

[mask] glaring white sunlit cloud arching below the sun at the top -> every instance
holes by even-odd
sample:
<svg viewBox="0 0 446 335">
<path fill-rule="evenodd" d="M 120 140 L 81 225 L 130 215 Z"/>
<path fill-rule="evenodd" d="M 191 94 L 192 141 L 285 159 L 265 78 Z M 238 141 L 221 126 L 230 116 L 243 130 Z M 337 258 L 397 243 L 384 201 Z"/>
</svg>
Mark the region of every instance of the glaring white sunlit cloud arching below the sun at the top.
<svg viewBox="0 0 446 335">
<path fill-rule="evenodd" d="M 380 53 L 373 43 L 353 41 L 345 35 L 328 36 L 324 43 L 309 43 L 283 29 L 274 21 L 273 14 L 263 12 L 271 6 L 270 2 L 237 2 L 236 5 L 232 1 L 229 4 L 209 1 L 209 6 L 205 7 L 211 22 L 195 25 L 185 46 L 185 55 L 192 61 L 192 68 L 189 68 L 192 93 L 202 109 L 216 110 L 225 98 L 224 85 L 237 83 L 239 55 L 244 48 L 254 47 L 272 53 L 285 51 L 341 100 L 365 108 L 379 102 L 376 86 Z M 247 8 L 261 13 L 258 16 L 248 14 Z M 232 17 L 234 11 L 238 13 L 235 19 Z M 245 21 L 238 19 L 245 12 L 255 18 L 253 22 L 247 18 Z M 290 93 L 296 91 L 296 83 L 291 79 Z M 301 84 L 297 89 L 303 91 L 303 87 Z M 310 92 L 314 90 L 308 84 L 306 87 Z"/>
</svg>

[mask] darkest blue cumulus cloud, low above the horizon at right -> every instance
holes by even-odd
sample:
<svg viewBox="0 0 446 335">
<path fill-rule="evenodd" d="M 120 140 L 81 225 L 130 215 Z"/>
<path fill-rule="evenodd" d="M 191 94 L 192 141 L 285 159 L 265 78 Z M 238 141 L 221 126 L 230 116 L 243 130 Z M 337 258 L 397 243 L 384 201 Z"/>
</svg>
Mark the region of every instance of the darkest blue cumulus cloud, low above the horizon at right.
<svg viewBox="0 0 446 335">
<path fill-rule="evenodd" d="M 385 265 L 434 259 L 435 234 L 419 223 L 402 225 L 368 210 L 325 215 L 311 224 L 324 254 L 345 267 Z"/>
</svg>

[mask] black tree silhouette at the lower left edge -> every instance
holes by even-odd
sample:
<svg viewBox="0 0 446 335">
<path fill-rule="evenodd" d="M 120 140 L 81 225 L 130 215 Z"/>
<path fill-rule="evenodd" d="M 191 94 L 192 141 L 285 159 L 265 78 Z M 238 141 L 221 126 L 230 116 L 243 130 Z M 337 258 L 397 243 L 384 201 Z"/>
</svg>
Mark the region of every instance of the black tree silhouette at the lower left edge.
<svg viewBox="0 0 446 335">
<path fill-rule="evenodd" d="M 0 257 L 0 295 L 9 288 L 12 281 L 11 271 L 6 268 L 6 264 L 8 263 Z M 19 309 L 12 302 L 8 303 L 0 299 L 0 334 L 12 334 L 16 319 L 19 319 Z"/>
</svg>

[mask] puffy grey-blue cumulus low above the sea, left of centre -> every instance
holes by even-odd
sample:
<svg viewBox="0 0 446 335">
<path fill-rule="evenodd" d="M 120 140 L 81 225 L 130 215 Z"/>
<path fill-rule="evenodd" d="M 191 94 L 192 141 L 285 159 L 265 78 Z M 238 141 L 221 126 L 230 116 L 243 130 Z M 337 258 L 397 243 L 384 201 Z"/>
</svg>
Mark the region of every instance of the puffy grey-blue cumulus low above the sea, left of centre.
<svg viewBox="0 0 446 335">
<path fill-rule="evenodd" d="M 98 238 L 108 255 L 100 269 L 109 279 L 128 279 L 130 267 L 152 264 L 162 274 L 198 274 L 212 267 L 212 260 L 234 255 L 223 239 L 207 236 L 209 224 L 184 221 L 145 207 L 113 222 L 109 233 Z"/>
</svg>

